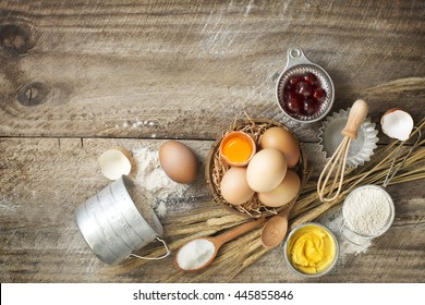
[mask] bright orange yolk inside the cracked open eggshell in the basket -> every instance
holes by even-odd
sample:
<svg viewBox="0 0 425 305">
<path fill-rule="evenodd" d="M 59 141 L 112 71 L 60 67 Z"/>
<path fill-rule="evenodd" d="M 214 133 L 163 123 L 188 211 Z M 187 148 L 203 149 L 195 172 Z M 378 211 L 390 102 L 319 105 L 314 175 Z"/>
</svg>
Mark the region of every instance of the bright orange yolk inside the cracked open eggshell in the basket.
<svg viewBox="0 0 425 305">
<path fill-rule="evenodd" d="M 250 159 L 253 149 L 248 138 L 234 134 L 224 139 L 222 155 L 233 163 L 242 163 Z"/>
</svg>

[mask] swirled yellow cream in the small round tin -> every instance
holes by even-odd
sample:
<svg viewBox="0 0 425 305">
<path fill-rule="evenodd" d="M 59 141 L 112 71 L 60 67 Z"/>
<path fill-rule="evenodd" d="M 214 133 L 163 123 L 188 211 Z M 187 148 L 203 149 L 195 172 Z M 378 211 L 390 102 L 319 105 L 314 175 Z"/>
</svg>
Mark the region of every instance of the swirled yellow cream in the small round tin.
<svg viewBox="0 0 425 305">
<path fill-rule="evenodd" d="M 336 244 L 321 227 L 306 225 L 291 236 L 287 252 L 294 268 L 307 274 L 315 274 L 325 271 L 332 264 Z"/>
</svg>

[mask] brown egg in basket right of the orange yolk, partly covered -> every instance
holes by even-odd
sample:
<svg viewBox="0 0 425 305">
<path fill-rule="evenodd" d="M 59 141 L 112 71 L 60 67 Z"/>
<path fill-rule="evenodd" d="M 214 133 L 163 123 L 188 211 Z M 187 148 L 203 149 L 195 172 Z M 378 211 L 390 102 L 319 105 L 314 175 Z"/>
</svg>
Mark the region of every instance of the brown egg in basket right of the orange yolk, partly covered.
<svg viewBox="0 0 425 305">
<path fill-rule="evenodd" d="M 276 148 L 287 158 L 288 167 L 293 168 L 300 160 L 298 139 L 283 127 L 268 129 L 259 138 L 262 148 Z"/>
</svg>

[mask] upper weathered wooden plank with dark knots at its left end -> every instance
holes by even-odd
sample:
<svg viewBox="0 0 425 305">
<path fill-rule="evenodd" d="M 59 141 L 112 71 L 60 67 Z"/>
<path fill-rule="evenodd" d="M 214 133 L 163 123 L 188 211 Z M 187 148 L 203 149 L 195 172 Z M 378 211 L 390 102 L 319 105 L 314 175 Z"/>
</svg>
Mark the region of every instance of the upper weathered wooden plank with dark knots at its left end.
<svg viewBox="0 0 425 305">
<path fill-rule="evenodd" d="M 2 1 L 0 135 L 211 139 L 246 112 L 314 142 L 319 123 L 289 122 L 275 101 L 292 44 L 332 76 L 335 110 L 366 97 L 375 121 L 392 106 L 417 120 L 424 11 L 423 1 Z"/>
</svg>

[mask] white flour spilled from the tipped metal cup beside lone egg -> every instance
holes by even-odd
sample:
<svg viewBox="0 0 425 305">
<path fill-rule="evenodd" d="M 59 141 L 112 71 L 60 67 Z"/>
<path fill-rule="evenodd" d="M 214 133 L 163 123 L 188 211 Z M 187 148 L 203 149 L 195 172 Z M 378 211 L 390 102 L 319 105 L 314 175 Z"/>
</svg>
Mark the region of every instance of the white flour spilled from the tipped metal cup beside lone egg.
<svg viewBox="0 0 425 305">
<path fill-rule="evenodd" d="M 136 147 L 132 150 L 137 162 L 134 183 L 144 193 L 148 204 L 158 217 L 167 213 L 167 204 L 171 199 L 184 196 L 187 184 L 172 181 L 159 164 L 159 152 L 156 149 Z"/>
</svg>

